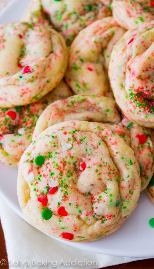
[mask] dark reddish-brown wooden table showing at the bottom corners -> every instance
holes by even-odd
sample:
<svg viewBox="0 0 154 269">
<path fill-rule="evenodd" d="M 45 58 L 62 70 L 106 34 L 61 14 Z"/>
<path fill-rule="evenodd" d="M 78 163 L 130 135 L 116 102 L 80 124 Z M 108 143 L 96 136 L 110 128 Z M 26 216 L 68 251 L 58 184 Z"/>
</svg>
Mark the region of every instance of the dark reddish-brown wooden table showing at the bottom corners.
<svg viewBox="0 0 154 269">
<path fill-rule="evenodd" d="M 144 247 L 144 243 L 143 243 Z M 6 260 L 6 265 L 1 265 L 1 260 Z M 8 260 L 7 260 L 7 252 L 5 248 L 5 239 L 4 239 L 4 233 L 1 227 L 0 223 L 0 269 L 8 269 Z M 69 268 L 69 267 L 68 267 Z M 121 265 L 115 265 L 115 266 L 109 266 L 104 267 L 107 269 L 111 268 L 118 268 L 118 269 L 154 269 L 154 259 L 147 259 L 147 260 L 141 260 L 136 262 L 129 262 Z"/>
</svg>

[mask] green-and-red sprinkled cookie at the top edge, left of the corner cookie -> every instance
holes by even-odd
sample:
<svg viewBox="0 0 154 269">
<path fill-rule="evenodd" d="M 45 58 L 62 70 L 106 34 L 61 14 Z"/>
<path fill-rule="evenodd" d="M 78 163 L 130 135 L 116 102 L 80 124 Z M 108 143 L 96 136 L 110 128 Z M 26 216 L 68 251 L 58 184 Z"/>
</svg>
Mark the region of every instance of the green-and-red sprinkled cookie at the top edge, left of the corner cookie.
<svg viewBox="0 0 154 269">
<path fill-rule="evenodd" d="M 111 16 L 110 3 L 108 0 L 33 0 L 22 20 L 49 24 L 49 18 L 70 45 L 80 30 Z"/>
</svg>

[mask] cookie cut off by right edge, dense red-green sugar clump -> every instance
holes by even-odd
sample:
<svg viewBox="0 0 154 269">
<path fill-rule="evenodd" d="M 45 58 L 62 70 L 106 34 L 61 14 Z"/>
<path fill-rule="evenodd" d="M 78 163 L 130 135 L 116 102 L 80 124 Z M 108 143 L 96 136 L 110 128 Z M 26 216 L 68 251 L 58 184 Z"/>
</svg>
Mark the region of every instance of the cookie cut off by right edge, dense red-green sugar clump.
<svg viewBox="0 0 154 269">
<path fill-rule="evenodd" d="M 116 99 L 133 123 L 154 128 L 154 21 L 129 30 L 115 45 L 109 77 Z"/>
</svg>

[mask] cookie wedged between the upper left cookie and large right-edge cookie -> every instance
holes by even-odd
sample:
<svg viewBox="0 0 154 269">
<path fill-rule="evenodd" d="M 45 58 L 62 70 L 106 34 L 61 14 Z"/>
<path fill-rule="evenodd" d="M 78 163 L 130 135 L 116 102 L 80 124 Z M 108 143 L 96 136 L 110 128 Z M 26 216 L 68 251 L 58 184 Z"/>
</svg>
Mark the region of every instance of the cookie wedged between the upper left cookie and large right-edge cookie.
<svg viewBox="0 0 154 269">
<path fill-rule="evenodd" d="M 83 29 L 71 44 L 66 82 L 75 94 L 106 95 L 108 65 L 114 45 L 125 30 L 108 17 Z"/>
</svg>

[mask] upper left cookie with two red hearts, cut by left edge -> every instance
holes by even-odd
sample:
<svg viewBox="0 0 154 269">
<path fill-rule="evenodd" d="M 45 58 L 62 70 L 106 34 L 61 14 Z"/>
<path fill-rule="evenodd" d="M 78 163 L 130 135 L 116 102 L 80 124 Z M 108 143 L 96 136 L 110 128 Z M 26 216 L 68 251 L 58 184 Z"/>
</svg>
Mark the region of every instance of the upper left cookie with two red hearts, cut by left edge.
<svg viewBox="0 0 154 269">
<path fill-rule="evenodd" d="M 67 67 L 63 37 L 41 24 L 0 25 L 0 107 L 27 105 L 55 88 Z"/>
</svg>

